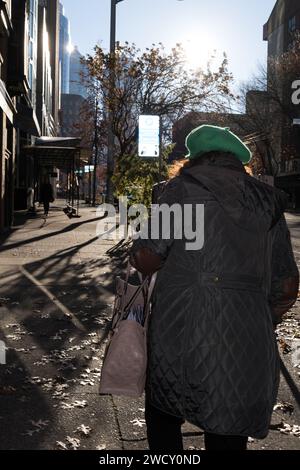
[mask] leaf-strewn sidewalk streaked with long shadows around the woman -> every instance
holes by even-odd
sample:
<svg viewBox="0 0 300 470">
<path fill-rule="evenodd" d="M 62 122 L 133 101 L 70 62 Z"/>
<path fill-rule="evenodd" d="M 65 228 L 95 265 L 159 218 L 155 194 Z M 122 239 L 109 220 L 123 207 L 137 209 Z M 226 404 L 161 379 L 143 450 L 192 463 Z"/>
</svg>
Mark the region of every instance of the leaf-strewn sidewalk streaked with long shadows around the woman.
<svg viewBox="0 0 300 470">
<path fill-rule="evenodd" d="M 82 208 L 81 216 L 70 220 L 56 207 L 47 221 L 38 213 L 0 238 L 0 340 L 9 348 L 0 366 L 0 449 L 147 449 L 143 400 L 98 395 L 113 280 L 125 253 L 96 238 L 95 209 Z M 299 311 L 300 304 L 282 327 L 285 352 Z M 300 449 L 299 437 L 280 432 L 283 422 L 300 424 L 300 369 L 290 354 L 283 359 L 282 409 L 269 438 L 252 449 Z M 187 449 L 203 447 L 190 425 L 184 441 Z"/>
</svg>

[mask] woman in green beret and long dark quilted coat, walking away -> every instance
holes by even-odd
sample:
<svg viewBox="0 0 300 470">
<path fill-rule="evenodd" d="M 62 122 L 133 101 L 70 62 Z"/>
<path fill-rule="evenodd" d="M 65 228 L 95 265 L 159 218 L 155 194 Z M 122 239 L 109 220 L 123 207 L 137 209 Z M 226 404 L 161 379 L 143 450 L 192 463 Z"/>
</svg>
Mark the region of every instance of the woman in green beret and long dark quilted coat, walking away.
<svg viewBox="0 0 300 470">
<path fill-rule="evenodd" d="M 191 249 L 184 230 L 181 239 L 171 230 L 136 240 L 131 256 L 144 275 L 159 271 L 148 341 L 148 441 L 152 451 L 181 451 L 181 426 L 189 421 L 205 431 L 207 450 L 246 450 L 248 436 L 268 435 L 279 384 L 274 330 L 298 294 L 286 196 L 247 175 L 251 152 L 229 129 L 201 126 L 186 145 L 189 162 L 159 203 L 182 212 L 192 205 L 198 233 L 195 209 L 204 205 L 204 246 Z"/>
</svg>

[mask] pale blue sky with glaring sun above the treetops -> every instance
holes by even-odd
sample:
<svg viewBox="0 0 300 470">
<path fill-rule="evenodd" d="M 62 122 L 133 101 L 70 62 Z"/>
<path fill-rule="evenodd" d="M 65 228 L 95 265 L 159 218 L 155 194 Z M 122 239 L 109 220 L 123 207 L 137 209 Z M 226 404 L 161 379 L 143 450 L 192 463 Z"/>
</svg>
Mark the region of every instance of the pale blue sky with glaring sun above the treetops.
<svg viewBox="0 0 300 470">
<path fill-rule="evenodd" d="M 109 44 L 110 0 L 63 0 L 72 43 L 83 54 Z M 117 40 L 145 48 L 184 44 L 191 66 L 225 51 L 237 81 L 247 80 L 266 58 L 263 24 L 275 0 L 124 0 L 117 5 Z"/>
</svg>

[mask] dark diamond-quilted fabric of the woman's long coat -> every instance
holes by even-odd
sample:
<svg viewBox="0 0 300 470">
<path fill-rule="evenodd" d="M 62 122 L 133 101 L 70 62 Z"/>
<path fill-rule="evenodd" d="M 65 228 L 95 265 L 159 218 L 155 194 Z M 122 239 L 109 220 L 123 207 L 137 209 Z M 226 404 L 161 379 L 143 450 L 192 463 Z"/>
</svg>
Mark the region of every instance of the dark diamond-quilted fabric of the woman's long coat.
<svg viewBox="0 0 300 470">
<path fill-rule="evenodd" d="M 172 183 L 171 202 L 180 194 L 185 201 L 192 196 L 195 203 L 205 204 L 204 248 L 186 252 L 184 240 L 137 241 L 134 245 L 134 249 L 149 246 L 168 255 L 154 296 L 148 395 L 157 408 L 206 431 L 263 438 L 279 383 L 268 303 L 272 267 L 273 277 L 275 267 L 279 276 L 297 269 L 290 249 L 276 249 L 276 261 L 274 252 L 272 256 L 272 246 L 286 246 L 287 228 L 281 222 L 269 231 L 275 196 L 263 185 L 240 181 L 235 201 L 240 213 L 233 218 L 231 209 L 228 215 L 211 190 L 192 182 L 185 182 L 184 190 L 182 186 L 180 178 Z M 230 181 L 226 191 L 230 191 Z M 252 222 L 255 230 L 248 230 Z M 281 253 L 288 260 L 283 262 Z M 222 289 L 201 283 L 201 273 L 215 272 L 237 279 L 254 276 L 263 288 L 251 292 L 234 284 Z"/>
</svg>

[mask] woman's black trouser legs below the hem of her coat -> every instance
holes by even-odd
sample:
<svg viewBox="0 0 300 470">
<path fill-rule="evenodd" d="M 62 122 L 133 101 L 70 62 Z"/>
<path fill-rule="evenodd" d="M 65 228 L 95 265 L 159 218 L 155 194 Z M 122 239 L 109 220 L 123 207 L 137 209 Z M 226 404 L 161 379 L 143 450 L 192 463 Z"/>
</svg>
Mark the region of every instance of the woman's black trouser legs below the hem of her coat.
<svg viewBox="0 0 300 470">
<path fill-rule="evenodd" d="M 163 413 L 146 402 L 146 424 L 150 451 L 157 453 L 183 451 L 181 434 L 183 419 Z M 204 439 L 206 450 L 247 450 L 247 437 L 205 433 Z"/>
</svg>

